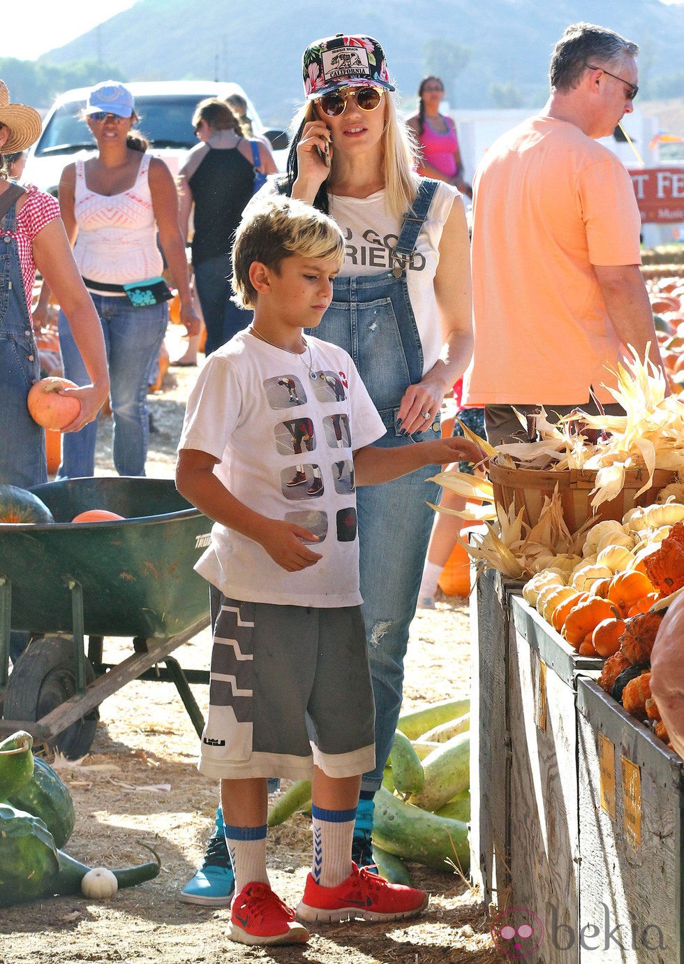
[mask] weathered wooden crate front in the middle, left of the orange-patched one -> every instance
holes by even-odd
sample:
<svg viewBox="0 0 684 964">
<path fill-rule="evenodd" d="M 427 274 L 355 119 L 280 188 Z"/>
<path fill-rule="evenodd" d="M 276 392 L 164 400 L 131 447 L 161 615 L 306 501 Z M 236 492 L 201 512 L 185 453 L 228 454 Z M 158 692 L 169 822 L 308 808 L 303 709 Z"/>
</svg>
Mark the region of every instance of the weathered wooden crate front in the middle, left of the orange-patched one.
<svg viewBox="0 0 684 964">
<path fill-rule="evenodd" d="M 579 912 L 579 820 L 575 700 L 578 675 L 599 660 L 578 656 L 536 609 L 511 601 L 510 907 L 543 924 L 538 956 L 554 964 L 579 960 L 577 948 L 548 941 L 559 925 L 576 929 Z M 500 910 L 503 909 L 499 904 Z"/>
</svg>

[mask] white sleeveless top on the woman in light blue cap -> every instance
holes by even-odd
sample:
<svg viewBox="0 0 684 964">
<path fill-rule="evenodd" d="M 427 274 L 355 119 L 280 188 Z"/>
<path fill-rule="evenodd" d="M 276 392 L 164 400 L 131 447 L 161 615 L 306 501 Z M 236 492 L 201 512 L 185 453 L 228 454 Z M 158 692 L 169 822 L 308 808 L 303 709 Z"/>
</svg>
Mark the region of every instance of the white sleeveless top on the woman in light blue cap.
<svg viewBox="0 0 684 964">
<path fill-rule="evenodd" d="M 108 197 L 86 186 L 84 162 L 76 161 L 74 215 L 78 235 L 73 254 L 83 278 L 127 284 L 161 275 L 164 261 L 157 247 L 147 181 L 149 162 L 149 155 L 143 154 L 133 187 Z"/>
</svg>

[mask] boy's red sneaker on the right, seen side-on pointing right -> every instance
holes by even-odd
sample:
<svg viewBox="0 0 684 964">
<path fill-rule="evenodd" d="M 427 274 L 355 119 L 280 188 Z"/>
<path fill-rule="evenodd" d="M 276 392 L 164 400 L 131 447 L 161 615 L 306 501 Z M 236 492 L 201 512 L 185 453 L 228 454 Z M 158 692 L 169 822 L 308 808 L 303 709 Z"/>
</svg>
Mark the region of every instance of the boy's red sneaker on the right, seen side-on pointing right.
<svg viewBox="0 0 684 964">
<path fill-rule="evenodd" d="M 425 891 L 403 884 L 390 884 L 368 867 L 354 870 L 337 887 L 321 887 L 311 874 L 306 878 L 304 896 L 297 908 L 302 921 L 339 922 L 401 921 L 414 917 L 428 903 Z"/>
</svg>

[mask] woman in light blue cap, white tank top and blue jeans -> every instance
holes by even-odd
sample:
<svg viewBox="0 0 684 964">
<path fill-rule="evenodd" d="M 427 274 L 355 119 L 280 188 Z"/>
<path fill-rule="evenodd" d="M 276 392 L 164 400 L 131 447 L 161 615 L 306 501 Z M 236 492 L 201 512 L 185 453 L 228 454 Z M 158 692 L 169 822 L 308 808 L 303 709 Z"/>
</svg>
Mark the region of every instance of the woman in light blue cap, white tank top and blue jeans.
<svg viewBox="0 0 684 964">
<path fill-rule="evenodd" d="M 114 417 L 114 465 L 119 475 L 145 475 L 149 373 L 169 320 L 165 301 L 145 294 L 134 305 L 123 286 L 158 278 L 164 261 L 178 288 L 181 321 L 189 335 L 200 322 L 192 305 L 185 244 L 171 172 L 145 154 L 145 138 L 130 133 L 137 120 L 130 92 L 115 81 L 92 90 L 86 120 L 98 153 L 69 164 L 60 180 L 62 218 L 76 264 L 102 323 Z M 77 385 L 85 367 L 60 312 L 65 375 Z M 65 436 L 58 478 L 92 475 L 96 423 Z"/>
</svg>

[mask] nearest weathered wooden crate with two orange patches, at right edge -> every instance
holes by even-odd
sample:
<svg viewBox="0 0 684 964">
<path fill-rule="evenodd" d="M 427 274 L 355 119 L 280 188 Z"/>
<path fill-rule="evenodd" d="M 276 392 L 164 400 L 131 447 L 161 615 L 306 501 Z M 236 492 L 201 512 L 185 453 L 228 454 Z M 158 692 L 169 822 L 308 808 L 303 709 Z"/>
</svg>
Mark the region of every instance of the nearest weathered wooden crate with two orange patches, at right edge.
<svg viewBox="0 0 684 964">
<path fill-rule="evenodd" d="M 679 964 L 684 762 L 591 680 L 577 710 L 580 959 Z"/>
</svg>

